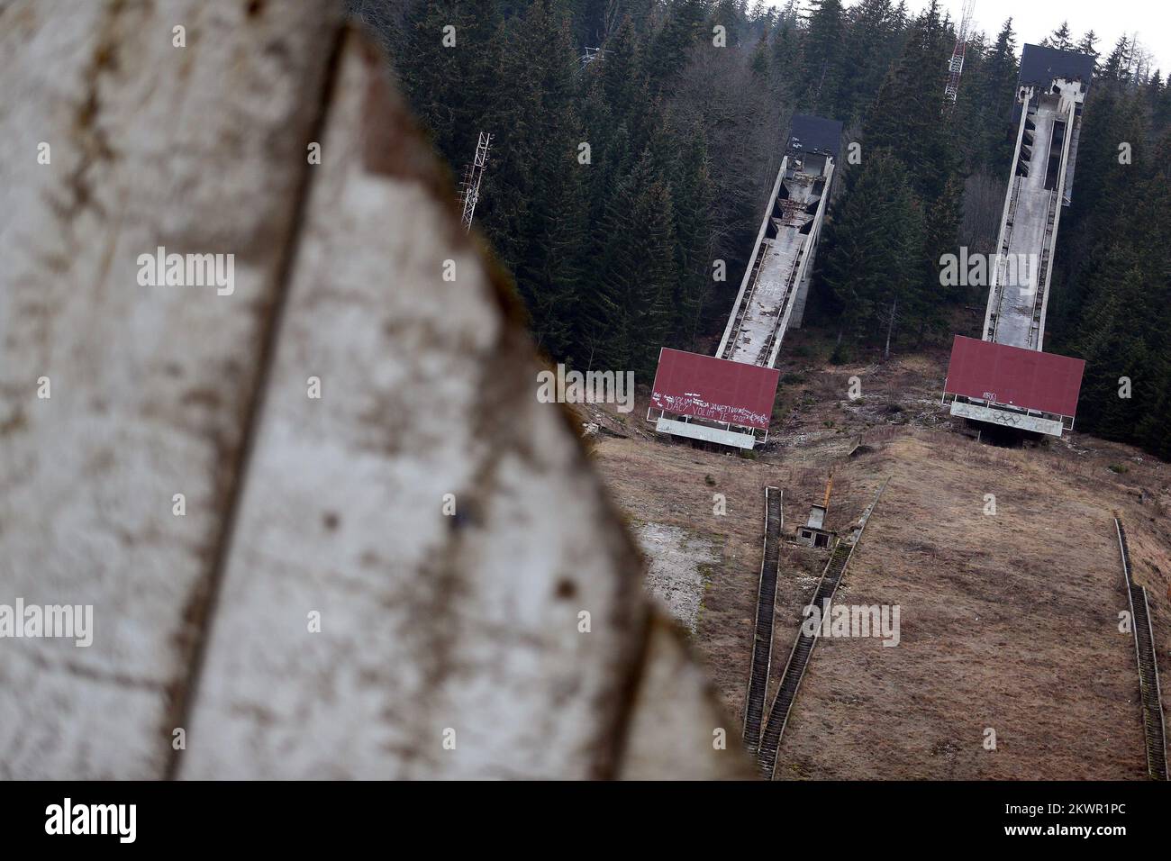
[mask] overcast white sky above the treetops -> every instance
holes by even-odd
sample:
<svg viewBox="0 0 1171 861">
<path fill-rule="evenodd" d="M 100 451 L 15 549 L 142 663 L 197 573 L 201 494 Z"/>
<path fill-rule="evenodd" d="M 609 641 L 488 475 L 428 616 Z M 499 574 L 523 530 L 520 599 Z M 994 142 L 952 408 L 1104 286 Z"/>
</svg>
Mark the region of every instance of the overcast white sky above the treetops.
<svg viewBox="0 0 1171 861">
<path fill-rule="evenodd" d="M 783 6 L 785 0 L 766 0 L 772 6 Z M 842 0 L 854 6 L 858 0 Z M 802 8 L 807 4 L 802 0 Z M 915 13 L 927 6 L 927 0 L 908 0 L 908 8 Z M 959 20 L 963 0 L 941 0 L 940 7 Z M 1152 55 L 1152 66 L 1163 70 L 1166 77 L 1171 70 L 1171 2 L 1167 0 L 975 0 L 973 29 L 984 30 L 989 41 L 995 39 L 1006 18 L 1013 19 L 1016 46 L 1026 42 L 1039 43 L 1056 29 L 1062 21 L 1069 21 L 1074 41 L 1093 29 L 1097 36 L 1097 49 L 1109 54 L 1118 36 L 1138 34 L 1139 43 Z"/>
</svg>

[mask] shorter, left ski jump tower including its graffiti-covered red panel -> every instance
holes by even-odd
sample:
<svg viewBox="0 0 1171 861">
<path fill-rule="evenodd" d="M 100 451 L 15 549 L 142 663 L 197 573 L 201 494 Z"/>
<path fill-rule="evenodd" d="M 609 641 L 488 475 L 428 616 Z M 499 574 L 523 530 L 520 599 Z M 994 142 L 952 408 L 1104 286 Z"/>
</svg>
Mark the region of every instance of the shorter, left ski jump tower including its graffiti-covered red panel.
<svg viewBox="0 0 1171 861">
<path fill-rule="evenodd" d="M 646 412 L 657 431 L 740 449 L 768 438 L 780 376 L 773 365 L 785 333 L 799 327 L 804 315 L 841 143 L 842 124 L 836 119 L 793 117 L 768 209 L 715 356 L 659 351 Z M 659 415 L 652 419 L 656 409 Z"/>
</svg>

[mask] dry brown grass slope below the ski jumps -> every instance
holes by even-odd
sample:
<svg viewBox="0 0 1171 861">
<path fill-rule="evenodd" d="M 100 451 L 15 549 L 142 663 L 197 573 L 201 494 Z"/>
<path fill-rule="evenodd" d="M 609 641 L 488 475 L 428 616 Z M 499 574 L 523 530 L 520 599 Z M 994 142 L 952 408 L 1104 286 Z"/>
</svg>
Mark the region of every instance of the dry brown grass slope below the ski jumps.
<svg viewBox="0 0 1171 861">
<path fill-rule="evenodd" d="M 828 525 L 836 529 L 851 526 L 893 476 L 840 600 L 899 604 L 902 643 L 817 647 L 782 742 L 780 777 L 1141 778 L 1134 647 L 1117 630 L 1127 599 L 1112 511 L 1130 533 L 1135 578 L 1149 588 L 1165 656 L 1171 472 L 1128 446 L 1082 435 L 1071 445 L 1000 449 L 956 433 L 931 405 L 941 358 L 826 370 L 794 361 L 788 369 L 802 370 L 806 382 L 787 387 L 787 424 L 756 462 L 636 433 L 600 439 L 596 464 L 632 519 L 697 531 L 723 546 L 696 645 L 737 725 L 763 487 L 785 488 L 792 535 L 820 501 L 831 467 Z M 865 402 L 912 405 L 886 421 L 851 411 L 843 402 L 854 374 Z M 628 429 L 643 415 L 634 414 Z M 827 421 L 845 431 L 827 429 Z M 847 459 L 860 437 L 869 451 Z M 1128 472 L 1111 472 L 1117 463 Z M 726 496 L 727 517 L 712 514 L 713 492 Z M 984 514 L 985 493 L 997 497 L 994 517 Z M 824 561 L 823 551 L 782 551 L 774 686 Z M 995 751 L 984 749 L 986 727 L 997 731 Z"/>
</svg>

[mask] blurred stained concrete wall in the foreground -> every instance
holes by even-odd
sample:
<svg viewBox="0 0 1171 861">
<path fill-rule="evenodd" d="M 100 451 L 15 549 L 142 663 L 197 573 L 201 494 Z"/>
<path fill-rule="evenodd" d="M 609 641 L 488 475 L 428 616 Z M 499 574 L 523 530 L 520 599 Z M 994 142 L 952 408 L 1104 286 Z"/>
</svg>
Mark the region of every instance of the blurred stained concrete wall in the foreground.
<svg viewBox="0 0 1171 861">
<path fill-rule="evenodd" d="M 0 6 L 0 778 L 751 775 L 340 8 Z"/>
</svg>

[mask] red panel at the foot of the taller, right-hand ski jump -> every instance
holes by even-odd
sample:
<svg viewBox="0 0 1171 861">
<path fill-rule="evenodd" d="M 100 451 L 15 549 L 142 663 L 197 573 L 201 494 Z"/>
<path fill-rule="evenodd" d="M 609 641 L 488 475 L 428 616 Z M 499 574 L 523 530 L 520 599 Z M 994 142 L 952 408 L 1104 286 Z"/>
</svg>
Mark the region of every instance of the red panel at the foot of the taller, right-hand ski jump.
<svg viewBox="0 0 1171 861">
<path fill-rule="evenodd" d="M 944 391 L 1074 416 L 1086 362 L 957 335 Z"/>
</svg>

